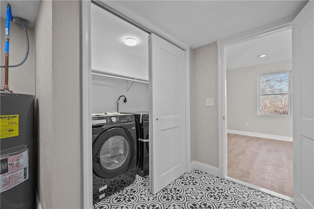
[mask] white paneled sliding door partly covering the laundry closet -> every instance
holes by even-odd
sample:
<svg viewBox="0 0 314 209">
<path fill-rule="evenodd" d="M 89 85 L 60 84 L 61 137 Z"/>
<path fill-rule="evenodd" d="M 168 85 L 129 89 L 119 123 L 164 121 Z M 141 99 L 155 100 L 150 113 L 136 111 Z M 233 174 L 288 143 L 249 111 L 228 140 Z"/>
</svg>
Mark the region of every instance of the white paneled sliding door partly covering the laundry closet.
<svg viewBox="0 0 314 209">
<path fill-rule="evenodd" d="M 186 171 L 184 51 L 150 35 L 150 192 Z"/>
</svg>

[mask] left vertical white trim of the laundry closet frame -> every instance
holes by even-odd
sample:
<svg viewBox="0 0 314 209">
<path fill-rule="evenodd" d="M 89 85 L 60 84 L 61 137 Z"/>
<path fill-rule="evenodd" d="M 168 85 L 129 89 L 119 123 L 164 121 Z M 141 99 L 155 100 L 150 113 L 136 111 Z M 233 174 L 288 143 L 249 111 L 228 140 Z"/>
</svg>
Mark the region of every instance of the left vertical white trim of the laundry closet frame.
<svg viewBox="0 0 314 209">
<path fill-rule="evenodd" d="M 92 70 L 89 0 L 81 2 L 81 140 L 82 140 L 82 208 L 93 208 L 92 162 Z"/>
</svg>

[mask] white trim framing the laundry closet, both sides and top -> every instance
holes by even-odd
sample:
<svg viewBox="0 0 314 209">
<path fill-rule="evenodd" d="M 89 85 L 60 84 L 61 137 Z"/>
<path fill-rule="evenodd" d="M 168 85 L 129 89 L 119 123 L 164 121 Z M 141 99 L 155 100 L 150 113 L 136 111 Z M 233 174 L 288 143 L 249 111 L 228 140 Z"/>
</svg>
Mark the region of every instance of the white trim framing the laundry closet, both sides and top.
<svg viewBox="0 0 314 209">
<path fill-rule="evenodd" d="M 89 209 L 93 207 L 92 192 L 92 124 L 91 124 L 91 1 L 81 2 L 81 140 L 82 140 L 82 206 Z M 103 3 L 103 2 L 102 2 Z M 118 5 L 117 2 L 106 1 L 105 5 L 111 11 L 118 12 L 152 33 L 157 34 L 168 42 L 184 50 L 185 56 L 185 144 L 186 144 L 186 171 L 190 171 L 190 78 L 189 78 L 189 50 L 190 47 L 175 36 L 163 30 L 157 24 L 149 21 L 136 11 Z M 151 143 L 150 143 L 151 144 Z"/>
</svg>

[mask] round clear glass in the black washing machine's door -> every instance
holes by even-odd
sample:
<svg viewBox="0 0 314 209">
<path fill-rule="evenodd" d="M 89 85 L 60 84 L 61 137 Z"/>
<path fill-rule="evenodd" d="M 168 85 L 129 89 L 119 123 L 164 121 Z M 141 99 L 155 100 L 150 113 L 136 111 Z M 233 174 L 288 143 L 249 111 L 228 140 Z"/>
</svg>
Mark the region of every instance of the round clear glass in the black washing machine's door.
<svg viewBox="0 0 314 209">
<path fill-rule="evenodd" d="M 114 170 L 123 165 L 130 152 L 130 145 L 123 136 L 112 136 L 105 141 L 100 151 L 100 162 L 108 170 Z"/>
</svg>

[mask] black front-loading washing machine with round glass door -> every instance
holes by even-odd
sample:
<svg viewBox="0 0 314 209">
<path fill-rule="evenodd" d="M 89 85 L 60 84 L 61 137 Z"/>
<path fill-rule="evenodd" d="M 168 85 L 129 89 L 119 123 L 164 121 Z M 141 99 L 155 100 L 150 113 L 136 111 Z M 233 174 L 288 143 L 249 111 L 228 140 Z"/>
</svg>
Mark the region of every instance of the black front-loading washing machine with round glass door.
<svg viewBox="0 0 314 209">
<path fill-rule="evenodd" d="M 134 115 L 92 116 L 93 202 L 135 181 Z"/>
</svg>

